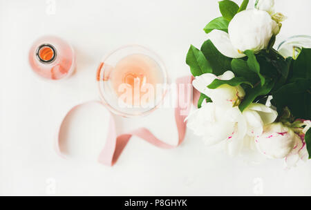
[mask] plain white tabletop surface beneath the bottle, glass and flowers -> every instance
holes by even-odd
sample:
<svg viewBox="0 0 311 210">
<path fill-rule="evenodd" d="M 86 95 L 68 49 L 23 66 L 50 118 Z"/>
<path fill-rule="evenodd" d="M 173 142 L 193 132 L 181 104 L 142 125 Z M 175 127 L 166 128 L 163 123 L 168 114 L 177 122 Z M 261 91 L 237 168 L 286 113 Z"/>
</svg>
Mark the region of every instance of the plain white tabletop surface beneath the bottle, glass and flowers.
<svg viewBox="0 0 311 210">
<path fill-rule="evenodd" d="M 98 164 L 106 133 L 98 107 L 81 108 L 72 119 L 68 141 L 77 158 L 59 158 L 55 128 L 71 106 L 98 97 L 95 70 L 105 53 L 124 44 L 149 46 L 172 78 L 187 75 L 189 45 L 200 47 L 202 28 L 220 13 L 215 0 L 55 2 L 53 14 L 53 1 L 0 0 L 0 195 L 256 195 L 261 184 L 263 195 L 311 195 L 311 161 L 290 171 L 281 160 L 247 164 L 206 147 L 190 132 L 173 150 L 133 137 L 115 166 Z M 311 35 L 311 1 L 276 3 L 288 16 L 277 43 Z M 31 42 L 46 34 L 70 41 L 77 52 L 77 71 L 66 81 L 43 81 L 28 66 Z M 169 110 L 117 121 L 120 132 L 144 124 L 164 141 L 177 141 Z"/>
</svg>

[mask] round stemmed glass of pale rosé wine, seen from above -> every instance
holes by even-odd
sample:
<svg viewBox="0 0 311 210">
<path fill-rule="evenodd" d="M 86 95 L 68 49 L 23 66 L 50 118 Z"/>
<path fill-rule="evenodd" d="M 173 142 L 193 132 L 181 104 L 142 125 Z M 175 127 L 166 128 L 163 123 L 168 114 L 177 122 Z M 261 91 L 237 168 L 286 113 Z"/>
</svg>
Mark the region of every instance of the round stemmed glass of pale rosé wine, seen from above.
<svg viewBox="0 0 311 210">
<path fill-rule="evenodd" d="M 125 46 L 97 69 L 104 104 L 124 117 L 147 115 L 162 102 L 169 77 L 161 59 L 142 46 Z"/>
</svg>

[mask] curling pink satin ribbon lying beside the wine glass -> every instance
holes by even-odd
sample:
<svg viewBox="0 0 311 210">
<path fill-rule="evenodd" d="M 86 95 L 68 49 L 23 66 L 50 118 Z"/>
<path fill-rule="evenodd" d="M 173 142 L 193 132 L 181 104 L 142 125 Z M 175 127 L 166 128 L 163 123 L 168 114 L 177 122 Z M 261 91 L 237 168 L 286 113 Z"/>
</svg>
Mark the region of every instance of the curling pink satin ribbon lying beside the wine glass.
<svg viewBox="0 0 311 210">
<path fill-rule="evenodd" d="M 176 84 L 186 84 L 185 88 L 187 89 L 187 84 L 191 84 L 193 77 L 180 77 L 176 80 Z M 180 92 L 180 88 L 178 89 L 178 97 L 176 98 L 177 100 L 180 99 L 180 96 L 182 94 L 182 97 L 187 98 L 189 94 L 191 94 L 193 100 L 192 102 L 197 102 L 199 93 L 197 91 L 194 91 L 194 93 L 187 93 L 187 90 Z M 192 90 L 192 89 L 191 89 Z M 91 101 L 91 102 L 86 102 L 83 104 L 79 104 L 77 106 L 74 106 L 73 108 L 68 111 L 64 119 L 62 120 L 62 123 L 60 124 L 58 131 L 57 131 L 57 140 L 56 140 L 56 151 L 59 155 L 61 155 L 63 158 L 65 157 L 61 151 L 60 148 L 60 131 L 62 129 L 64 120 L 70 113 L 77 107 L 83 106 L 84 104 L 90 104 L 90 103 L 97 103 L 97 104 L 102 104 L 100 101 Z M 150 144 L 153 144 L 154 146 L 158 146 L 162 149 L 173 149 L 179 146 L 182 141 L 185 139 L 185 133 L 186 133 L 186 122 L 185 118 L 189 114 L 189 110 L 191 108 L 191 100 L 187 100 L 187 106 L 185 108 L 180 107 L 180 103 L 177 102 L 178 106 L 175 108 L 175 121 L 176 121 L 176 126 L 178 129 L 178 144 L 176 145 L 171 145 L 167 144 L 165 142 L 162 142 L 159 140 L 153 133 L 151 133 L 147 128 L 138 128 L 135 129 L 134 131 L 131 131 L 129 133 L 124 133 L 121 135 L 117 135 L 116 129 L 115 129 L 115 120 L 113 119 L 113 116 L 111 115 L 110 117 L 110 123 L 109 123 L 109 133 L 106 138 L 106 144 L 102 151 L 100 152 L 100 155 L 98 157 L 98 161 L 102 164 L 105 164 L 107 166 L 113 166 L 115 162 L 117 162 L 117 159 L 120 157 L 124 147 L 126 144 L 129 142 L 131 137 L 133 135 L 138 136 L 142 138 L 143 140 L 149 142 Z M 104 106 L 104 104 L 102 104 Z M 105 107 L 105 106 L 104 106 Z M 106 107 L 105 107 L 106 108 Z M 182 113 L 182 115 L 180 114 Z"/>
</svg>

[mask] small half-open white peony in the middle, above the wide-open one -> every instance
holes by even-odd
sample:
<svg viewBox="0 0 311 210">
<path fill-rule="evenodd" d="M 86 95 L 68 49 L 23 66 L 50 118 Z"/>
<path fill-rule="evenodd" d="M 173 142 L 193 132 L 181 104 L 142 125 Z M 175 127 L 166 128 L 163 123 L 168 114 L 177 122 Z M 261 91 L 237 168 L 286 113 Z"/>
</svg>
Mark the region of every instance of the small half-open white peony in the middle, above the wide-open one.
<svg viewBox="0 0 311 210">
<path fill-rule="evenodd" d="M 200 93 L 208 95 L 211 100 L 217 104 L 233 106 L 236 100 L 241 99 L 245 96 L 245 91 L 241 86 L 229 86 L 223 84 L 216 89 L 209 89 L 207 86 L 214 81 L 214 79 L 229 80 L 234 78 L 232 71 L 226 71 L 223 75 L 216 76 L 211 73 L 206 73 L 197 76 L 192 82 L 194 88 Z"/>
</svg>

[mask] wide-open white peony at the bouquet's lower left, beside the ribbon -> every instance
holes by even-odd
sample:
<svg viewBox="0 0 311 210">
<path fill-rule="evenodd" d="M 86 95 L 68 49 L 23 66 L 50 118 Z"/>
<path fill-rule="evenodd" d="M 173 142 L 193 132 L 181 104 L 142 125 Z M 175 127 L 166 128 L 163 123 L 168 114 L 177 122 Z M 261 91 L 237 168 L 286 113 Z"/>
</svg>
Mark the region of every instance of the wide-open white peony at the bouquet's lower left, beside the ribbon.
<svg viewBox="0 0 311 210">
<path fill-rule="evenodd" d="M 263 104 L 251 104 L 243 114 L 237 106 L 221 106 L 215 102 L 202 102 L 202 107 L 187 117 L 187 127 L 205 140 L 208 145 L 225 141 L 229 155 L 238 154 L 245 137 L 254 142 L 265 124 L 274 122 L 276 111 Z"/>
</svg>

